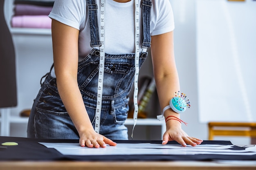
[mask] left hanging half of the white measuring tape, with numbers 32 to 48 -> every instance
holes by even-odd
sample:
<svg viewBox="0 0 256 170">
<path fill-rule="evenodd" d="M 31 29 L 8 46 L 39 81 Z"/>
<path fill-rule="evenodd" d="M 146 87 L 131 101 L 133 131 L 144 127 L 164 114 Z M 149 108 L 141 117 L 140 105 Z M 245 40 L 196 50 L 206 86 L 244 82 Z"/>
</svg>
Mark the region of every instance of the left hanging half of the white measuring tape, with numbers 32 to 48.
<svg viewBox="0 0 256 170">
<path fill-rule="evenodd" d="M 102 90 L 105 64 L 105 0 L 101 0 L 101 20 L 100 20 L 100 59 L 99 59 L 99 77 L 97 90 L 97 106 L 95 113 L 95 132 L 99 133 L 101 122 L 101 105 L 102 105 Z"/>
</svg>

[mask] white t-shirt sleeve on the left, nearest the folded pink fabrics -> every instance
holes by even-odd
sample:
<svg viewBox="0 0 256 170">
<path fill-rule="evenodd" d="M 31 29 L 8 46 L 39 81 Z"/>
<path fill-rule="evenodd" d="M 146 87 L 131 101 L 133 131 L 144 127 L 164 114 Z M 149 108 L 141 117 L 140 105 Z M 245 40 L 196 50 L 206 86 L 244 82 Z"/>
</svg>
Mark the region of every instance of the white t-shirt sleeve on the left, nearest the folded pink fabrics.
<svg viewBox="0 0 256 170">
<path fill-rule="evenodd" d="M 85 0 L 55 0 L 49 18 L 80 30 L 85 10 Z"/>
</svg>

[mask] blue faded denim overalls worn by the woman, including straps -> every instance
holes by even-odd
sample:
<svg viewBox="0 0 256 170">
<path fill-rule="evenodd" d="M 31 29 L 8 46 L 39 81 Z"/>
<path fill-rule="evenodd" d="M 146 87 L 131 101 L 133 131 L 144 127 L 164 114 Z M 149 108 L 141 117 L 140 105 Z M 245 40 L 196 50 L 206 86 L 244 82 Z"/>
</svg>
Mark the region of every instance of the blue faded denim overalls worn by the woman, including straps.
<svg viewBox="0 0 256 170">
<path fill-rule="evenodd" d="M 150 47 L 151 2 L 143 0 L 143 43 Z M 78 64 L 78 85 L 85 108 L 95 124 L 99 74 L 99 26 L 95 0 L 87 0 L 92 51 Z M 140 53 L 139 67 L 147 53 Z M 51 68 L 52 70 L 52 68 Z M 51 72 L 51 71 L 50 71 Z M 79 134 L 58 94 L 56 78 L 47 73 L 29 115 L 27 137 L 40 139 L 79 139 Z M 105 55 L 100 134 L 109 139 L 128 139 L 124 121 L 128 115 L 128 94 L 135 74 L 135 53 Z M 41 79 L 42 80 L 42 79 Z M 72 93 L 72 91 L 70 91 Z"/>
</svg>

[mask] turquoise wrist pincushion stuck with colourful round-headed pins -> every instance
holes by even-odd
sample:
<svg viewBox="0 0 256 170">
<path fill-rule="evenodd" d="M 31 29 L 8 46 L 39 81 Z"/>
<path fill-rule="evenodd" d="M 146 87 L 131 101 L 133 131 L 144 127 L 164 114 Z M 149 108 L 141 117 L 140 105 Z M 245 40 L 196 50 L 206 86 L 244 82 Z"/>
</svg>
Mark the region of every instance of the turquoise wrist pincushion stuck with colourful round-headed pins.
<svg viewBox="0 0 256 170">
<path fill-rule="evenodd" d="M 184 93 L 180 94 L 180 91 L 178 93 L 174 93 L 175 97 L 173 97 L 170 100 L 170 106 L 176 113 L 183 113 L 186 108 L 190 108 L 190 102 L 189 99 L 186 99 L 186 95 Z"/>
</svg>

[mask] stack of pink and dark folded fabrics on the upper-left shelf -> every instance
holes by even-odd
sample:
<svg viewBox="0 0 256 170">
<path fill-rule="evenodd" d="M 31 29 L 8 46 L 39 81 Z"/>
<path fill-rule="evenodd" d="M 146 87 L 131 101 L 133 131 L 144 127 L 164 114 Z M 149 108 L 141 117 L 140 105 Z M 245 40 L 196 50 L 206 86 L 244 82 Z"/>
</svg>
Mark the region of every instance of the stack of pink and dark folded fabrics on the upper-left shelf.
<svg viewBox="0 0 256 170">
<path fill-rule="evenodd" d="M 48 15 L 52 11 L 54 0 L 14 0 L 13 3 L 12 27 L 51 28 L 52 20 Z"/>
</svg>

